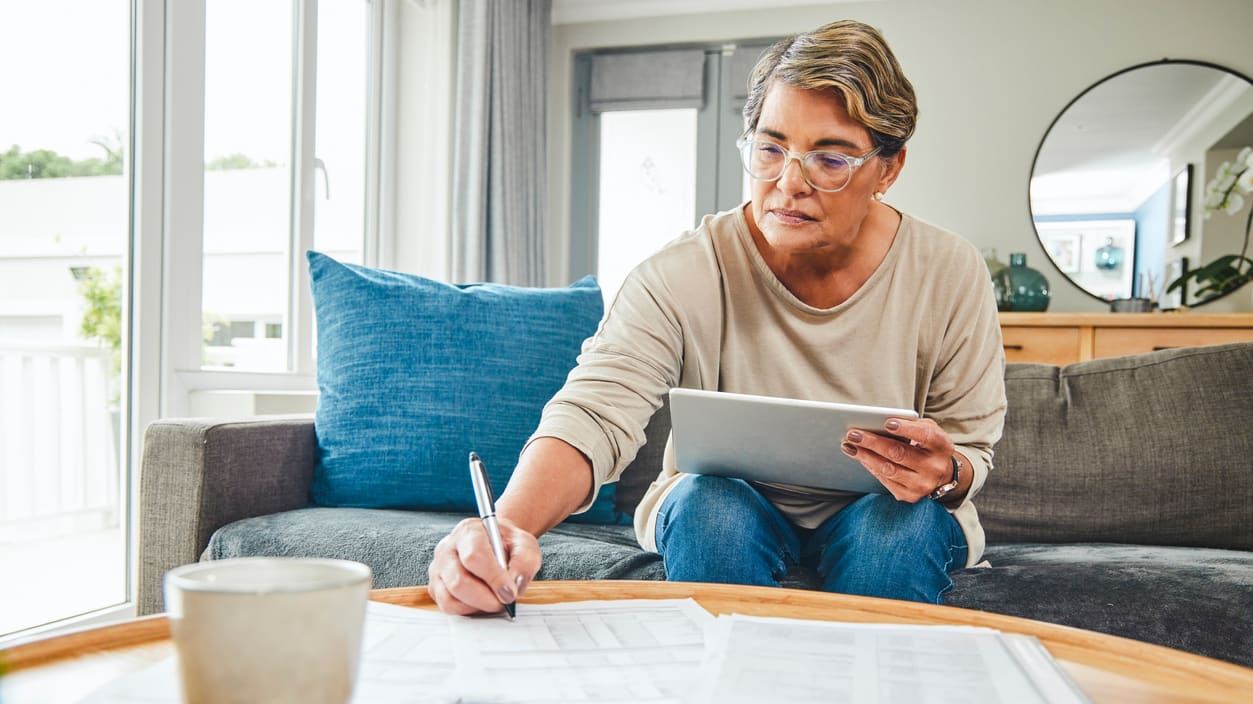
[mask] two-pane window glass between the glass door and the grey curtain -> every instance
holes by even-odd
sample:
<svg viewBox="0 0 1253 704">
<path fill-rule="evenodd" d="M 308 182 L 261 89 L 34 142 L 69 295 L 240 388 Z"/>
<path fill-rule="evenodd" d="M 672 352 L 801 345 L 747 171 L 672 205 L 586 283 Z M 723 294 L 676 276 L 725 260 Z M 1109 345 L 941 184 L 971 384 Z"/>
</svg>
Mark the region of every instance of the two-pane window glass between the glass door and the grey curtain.
<svg viewBox="0 0 1253 704">
<path fill-rule="evenodd" d="M 362 261 L 368 19 L 363 0 L 205 3 L 205 368 L 308 371 L 288 337 L 304 249 Z"/>
</svg>

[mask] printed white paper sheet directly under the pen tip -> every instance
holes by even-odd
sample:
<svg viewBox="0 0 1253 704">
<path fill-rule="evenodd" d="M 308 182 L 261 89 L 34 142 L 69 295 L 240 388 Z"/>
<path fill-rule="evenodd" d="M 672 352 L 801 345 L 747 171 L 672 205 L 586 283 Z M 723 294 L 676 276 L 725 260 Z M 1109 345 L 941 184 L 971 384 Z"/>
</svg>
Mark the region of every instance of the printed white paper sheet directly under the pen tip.
<svg viewBox="0 0 1253 704">
<path fill-rule="evenodd" d="M 452 623 L 467 701 L 680 701 L 713 616 L 690 599 L 521 604 Z"/>
</svg>

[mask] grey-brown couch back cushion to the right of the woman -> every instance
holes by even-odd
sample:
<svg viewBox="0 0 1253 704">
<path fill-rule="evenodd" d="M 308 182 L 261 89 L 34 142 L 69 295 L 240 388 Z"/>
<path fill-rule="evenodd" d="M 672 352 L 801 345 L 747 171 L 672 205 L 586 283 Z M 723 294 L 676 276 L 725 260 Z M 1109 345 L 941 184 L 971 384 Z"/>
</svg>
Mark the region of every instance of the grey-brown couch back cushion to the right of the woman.
<svg viewBox="0 0 1253 704">
<path fill-rule="evenodd" d="M 1009 365 L 989 544 L 1253 550 L 1253 343 Z"/>
</svg>

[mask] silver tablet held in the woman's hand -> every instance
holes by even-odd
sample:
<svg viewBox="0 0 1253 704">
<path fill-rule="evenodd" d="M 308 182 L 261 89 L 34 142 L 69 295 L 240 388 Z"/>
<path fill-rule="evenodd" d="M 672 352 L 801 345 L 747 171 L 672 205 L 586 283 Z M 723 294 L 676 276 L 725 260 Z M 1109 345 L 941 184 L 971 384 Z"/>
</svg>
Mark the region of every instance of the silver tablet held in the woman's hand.
<svg viewBox="0 0 1253 704">
<path fill-rule="evenodd" d="M 858 494 L 887 494 L 887 489 L 843 453 L 845 435 L 851 428 L 887 435 L 887 418 L 917 417 L 910 408 L 670 390 L 680 472 Z"/>
</svg>

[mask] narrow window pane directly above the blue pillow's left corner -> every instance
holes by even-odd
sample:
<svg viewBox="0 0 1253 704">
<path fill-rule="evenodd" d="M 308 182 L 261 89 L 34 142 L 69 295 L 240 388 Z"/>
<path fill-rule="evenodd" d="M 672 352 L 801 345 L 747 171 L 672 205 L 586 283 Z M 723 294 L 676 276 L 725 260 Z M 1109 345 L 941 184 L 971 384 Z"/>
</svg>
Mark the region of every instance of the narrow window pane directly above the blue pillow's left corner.
<svg viewBox="0 0 1253 704">
<path fill-rule="evenodd" d="M 322 0 L 317 21 L 313 247 L 362 263 L 366 212 L 365 0 Z"/>
</svg>

